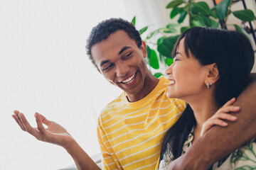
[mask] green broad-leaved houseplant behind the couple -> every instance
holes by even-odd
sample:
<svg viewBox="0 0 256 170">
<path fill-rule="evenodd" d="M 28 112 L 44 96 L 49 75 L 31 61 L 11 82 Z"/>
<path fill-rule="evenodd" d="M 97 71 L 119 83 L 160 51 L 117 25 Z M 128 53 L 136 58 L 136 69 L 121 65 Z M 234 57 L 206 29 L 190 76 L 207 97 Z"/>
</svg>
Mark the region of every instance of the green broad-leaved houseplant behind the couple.
<svg viewBox="0 0 256 170">
<path fill-rule="evenodd" d="M 169 66 L 173 59 L 171 52 L 174 48 L 178 36 L 188 28 L 193 27 L 210 27 L 210 28 L 226 28 L 228 16 L 234 15 L 240 21 L 253 21 L 255 14 L 250 9 L 240 11 L 231 11 L 232 0 L 223 0 L 218 5 L 210 8 L 205 1 L 195 0 L 172 0 L 167 4 L 166 9 L 170 10 L 170 18 L 175 23 L 169 23 L 164 28 L 158 28 L 146 35 L 146 50 L 148 57 L 146 63 L 149 69 L 154 73 L 155 77 L 160 77 L 163 74 L 162 67 Z M 186 22 L 185 22 L 186 21 Z M 135 26 L 136 17 L 132 19 Z M 221 23 L 221 24 L 220 24 Z M 221 26 L 220 26 L 221 25 Z M 232 24 L 235 30 L 244 33 L 247 32 L 236 24 Z M 144 34 L 149 26 L 139 30 L 139 33 Z M 248 36 L 249 37 L 249 36 Z"/>
</svg>

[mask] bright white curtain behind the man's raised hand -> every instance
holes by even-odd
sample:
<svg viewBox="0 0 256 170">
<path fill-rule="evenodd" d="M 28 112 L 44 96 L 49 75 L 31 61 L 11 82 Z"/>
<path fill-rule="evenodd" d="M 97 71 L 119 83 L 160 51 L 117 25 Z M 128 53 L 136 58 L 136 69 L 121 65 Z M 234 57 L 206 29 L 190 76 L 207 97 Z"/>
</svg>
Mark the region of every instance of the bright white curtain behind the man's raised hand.
<svg viewBox="0 0 256 170">
<path fill-rule="evenodd" d="M 164 0 L 0 1 L 0 170 L 74 164 L 63 148 L 19 129 L 14 110 L 33 126 L 39 112 L 67 128 L 91 156 L 100 152 L 97 117 L 121 91 L 87 59 L 87 36 L 111 17 L 131 21 L 136 15 L 137 28 L 164 26 L 165 5 Z"/>
</svg>

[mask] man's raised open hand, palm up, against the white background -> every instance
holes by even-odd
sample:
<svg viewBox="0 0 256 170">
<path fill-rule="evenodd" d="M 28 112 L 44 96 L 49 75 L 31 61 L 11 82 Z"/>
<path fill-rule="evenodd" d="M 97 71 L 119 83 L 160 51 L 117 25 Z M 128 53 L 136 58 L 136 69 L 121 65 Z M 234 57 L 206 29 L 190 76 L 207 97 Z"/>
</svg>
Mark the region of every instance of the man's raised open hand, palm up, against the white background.
<svg viewBox="0 0 256 170">
<path fill-rule="evenodd" d="M 58 123 L 47 120 L 39 113 L 35 113 L 37 128 L 32 128 L 26 120 L 25 115 L 19 111 L 14 111 L 14 115 L 12 115 L 12 117 L 16 120 L 16 123 L 18 123 L 22 130 L 30 133 L 36 137 L 36 139 L 43 142 L 53 143 L 66 148 L 74 141 L 73 137 L 67 130 L 65 130 L 65 128 Z M 44 128 L 43 124 L 47 125 L 48 128 Z"/>
</svg>

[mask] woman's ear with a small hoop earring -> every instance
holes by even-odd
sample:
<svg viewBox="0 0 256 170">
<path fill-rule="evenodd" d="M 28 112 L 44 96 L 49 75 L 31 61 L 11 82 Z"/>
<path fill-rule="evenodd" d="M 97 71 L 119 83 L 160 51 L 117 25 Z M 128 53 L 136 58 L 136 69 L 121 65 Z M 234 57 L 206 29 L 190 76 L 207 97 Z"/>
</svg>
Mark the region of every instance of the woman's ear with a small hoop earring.
<svg viewBox="0 0 256 170">
<path fill-rule="evenodd" d="M 207 74 L 205 79 L 205 84 L 215 84 L 218 81 L 220 75 L 218 72 L 218 67 L 215 63 L 206 65 Z"/>
</svg>

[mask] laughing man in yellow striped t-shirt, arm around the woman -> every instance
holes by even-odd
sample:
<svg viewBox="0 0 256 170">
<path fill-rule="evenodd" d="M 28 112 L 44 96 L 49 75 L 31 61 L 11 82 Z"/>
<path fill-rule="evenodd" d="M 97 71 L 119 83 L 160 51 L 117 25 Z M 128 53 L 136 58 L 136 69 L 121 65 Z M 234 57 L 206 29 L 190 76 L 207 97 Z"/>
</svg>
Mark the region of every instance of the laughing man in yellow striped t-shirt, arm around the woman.
<svg viewBox="0 0 256 170">
<path fill-rule="evenodd" d="M 164 77 L 156 79 L 147 69 L 146 45 L 132 23 L 115 18 L 99 23 L 87 40 L 87 54 L 107 81 L 124 90 L 106 106 L 99 118 L 97 133 L 103 169 L 157 169 L 161 141 L 185 109 L 185 103 L 167 98 L 169 81 Z M 256 99 L 255 86 L 254 81 L 235 103 L 241 107 L 235 123 L 229 123 L 228 128 L 211 128 L 173 162 L 171 168 L 207 169 L 256 137 L 256 114 L 252 104 Z M 22 113 L 14 113 L 21 129 L 38 140 L 64 147 L 78 169 L 98 169 L 60 125 L 36 113 L 37 130 L 31 128 Z M 48 129 L 43 128 L 42 123 L 48 125 Z"/>
</svg>

